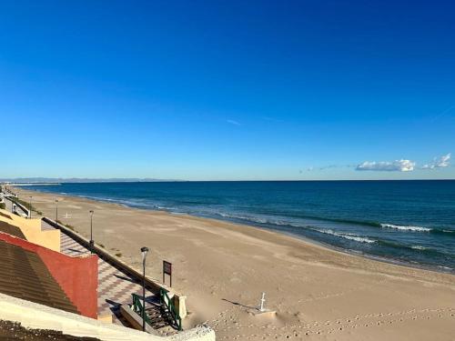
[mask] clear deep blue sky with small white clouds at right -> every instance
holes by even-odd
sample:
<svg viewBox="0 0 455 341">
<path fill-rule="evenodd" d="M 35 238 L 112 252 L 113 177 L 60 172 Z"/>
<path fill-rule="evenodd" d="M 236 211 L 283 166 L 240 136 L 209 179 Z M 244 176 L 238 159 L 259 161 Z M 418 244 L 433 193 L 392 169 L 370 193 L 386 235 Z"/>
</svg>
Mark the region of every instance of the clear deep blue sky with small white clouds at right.
<svg viewBox="0 0 455 341">
<path fill-rule="evenodd" d="M 454 11 L 3 2 L 0 177 L 455 178 Z"/>
</svg>

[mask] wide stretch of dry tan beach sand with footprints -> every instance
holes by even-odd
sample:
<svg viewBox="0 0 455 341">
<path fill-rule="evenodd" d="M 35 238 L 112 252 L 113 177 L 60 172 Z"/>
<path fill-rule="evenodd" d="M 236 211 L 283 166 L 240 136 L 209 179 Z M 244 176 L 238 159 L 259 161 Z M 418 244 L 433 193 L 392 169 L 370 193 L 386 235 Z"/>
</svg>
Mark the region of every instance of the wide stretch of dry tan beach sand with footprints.
<svg viewBox="0 0 455 341">
<path fill-rule="evenodd" d="M 19 196 L 28 193 L 19 189 Z M 55 218 L 55 195 L 33 193 Z M 59 220 L 187 295 L 185 326 L 206 322 L 218 340 L 455 340 L 455 276 L 350 256 L 250 226 L 57 196 Z M 64 216 L 71 216 L 65 218 Z M 261 292 L 276 316 L 253 316 Z"/>
</svg>

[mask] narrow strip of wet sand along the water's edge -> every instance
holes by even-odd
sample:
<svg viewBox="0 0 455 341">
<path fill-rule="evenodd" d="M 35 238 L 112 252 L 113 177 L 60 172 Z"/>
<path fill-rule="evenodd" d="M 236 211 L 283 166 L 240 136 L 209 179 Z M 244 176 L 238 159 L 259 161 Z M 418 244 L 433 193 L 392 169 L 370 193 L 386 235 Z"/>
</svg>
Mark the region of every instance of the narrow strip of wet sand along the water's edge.
<svg viewBox="0 0 455 341">
<path fill-rule="evenodd" d="M 10 187 L 16 189 L 15 186 L 10 186 Z M 21 186 L 19 186 L 19 187 L 21 187 Z M 370 255 L 370 254 L 367 254 L 367 253 L 364 253 L 364 252 L 361 252 L 361 251 L 351 250 L 351 249 L 343 248 L 343 247 L 340 247 L 340 246 L 333 246 L 333 245 L 330 245 L 329 243 L 325 243 L 325 242 L 322 242 L 322 241 L 319 241 L 319 240 L 311 239 L 311 238 L 309 238 L 307 236 L 298 236 L 296 234 L 287 233 L 287 232 L 284 232 L 284 231 L 279 231 L 278 229 L 275 229 L 273 227 L 256 226 L 256 225 L 254 225 L 254 223 L 253 224 L 238 223 L 236 221 L 229 220 L 229 219 L 208 217 L 208 216 L 197 216 L 197 215 L 191 215 L 191 214 L 187 214 L 187 213 L 171 212 L 171 211 L 168 211 L 167 209 L 130 206 L 130 205 L 127 205 L 127 204 L 118 203 L 118 202 L 116 202 L 116 200 L 108 199 L 108 198 L 99 198 L 99 197 L 91 197 L 91 196 L 77 196 L 77 195 L 69 195 L 69 194 L 66 194 L 66 193 L 65 194 L 64 193 L 51 193 L 51 192 L 44 192 L 44 191 L 39 191 L 37 189 L 31 189 L 31 188 L 27 188 L 27 189 L 21 188 L 21 189 L 25 190 L 25 191 L 32 191 L 32 192 L 45 194 L 45 195 L 50 195 L 50 196 L 54 195 L 54 196 L 67 196 L 67 197 L 81 198 L 81 199 L 91 200 L 91 201 L 94 201 L 94 202 L 100 202 L 100 203 L 106 203 L 106 204 L 122 206 L 122 207 L 130 208 L 130 209 L 146 210 L 146 211 L 155 212 L 155 213 L 164 213 L 164 214 L 167 214 L 169 216 L 187 216 L 187 217 L 193 217 L 193 218 L 197 218 L 197 219 L 207 219 L 207 221 L 222 222 L 222 223 L 227 223 L 227 224 L 233 224 L 233 225 L 236 225 L 236 226 L 243 226 L 245 228 L 258 228 L 259 230 L 265 230 L 265 231 L 277 233 L 278 235 L 288 236 L 290 238 L 295 238 L 295 239 L 301 240 L 301 241 L 303 241 L 305 243 L 311 244 L 313 246 L 319 246 L 319 247 L 326 248 L 328 250 L 335 251 L 335 252 L 340 252 L 342 254 L 349 255 L 349 256 L 359 256 L 359 257 L 363 257 L 363 258 L 366 258 L 366 259 L 369 259 L 369 260 L 372 260 L 372 261 L 381 262 L 381 263 L 385 263 L 385 264 L 390 264 L 390 265 L 394 265 L 394 266 L 405 266 L 405 267 L 410 267 L 412 269 L 432 271 L 432 272 L 441 273 L 441 274 L 448 274 L 448 275 L 455 275 L 455 269 L 450 268 L 448 266 L 431 266 L 431 265 L 427 265 L 427 264 L 412 263 L 412 262 L 406 261 L 406 260 L 394 259 L 394 258 L 391 258 L 391 257 L 389 258 L 389 257 L 385 257 L 385 256 Z"/>
</svg>

